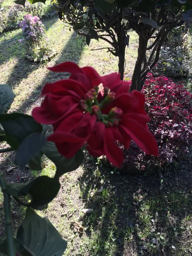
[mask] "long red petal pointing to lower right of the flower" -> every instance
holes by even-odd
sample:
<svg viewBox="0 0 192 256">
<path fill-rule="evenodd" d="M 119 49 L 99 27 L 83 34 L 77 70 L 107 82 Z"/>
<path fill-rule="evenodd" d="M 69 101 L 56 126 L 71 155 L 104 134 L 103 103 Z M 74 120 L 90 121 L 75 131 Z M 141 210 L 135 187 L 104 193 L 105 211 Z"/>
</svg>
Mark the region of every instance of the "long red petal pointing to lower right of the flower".
<svg viewBox="0 0 192 256">
<path fill-rule="evenodd" d="M 153 134 L 143 125 L 132 119 L 129 127 L 120 126 L 146 154 L 158 156 L 157 142 Z"/>
</svg>

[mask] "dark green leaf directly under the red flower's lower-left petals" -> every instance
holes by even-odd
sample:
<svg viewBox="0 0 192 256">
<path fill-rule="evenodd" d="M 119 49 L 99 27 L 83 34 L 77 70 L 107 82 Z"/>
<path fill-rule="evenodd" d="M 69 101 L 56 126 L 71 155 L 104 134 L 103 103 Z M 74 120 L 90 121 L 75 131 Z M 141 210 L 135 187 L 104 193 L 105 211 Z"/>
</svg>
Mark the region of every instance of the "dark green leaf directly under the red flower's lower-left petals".
<svg viewBox="0 0 192 256">
<path fill-rule="evenodd" d="M 72 158 L 63 157 L 52 141 L 47 141 L 41 151 L 53 162 L 57 168 L 56 175 L 61 176 L 66 172 L 76 170 L 84 159 L 84 153 L 80 149 Z"/>
</svg>

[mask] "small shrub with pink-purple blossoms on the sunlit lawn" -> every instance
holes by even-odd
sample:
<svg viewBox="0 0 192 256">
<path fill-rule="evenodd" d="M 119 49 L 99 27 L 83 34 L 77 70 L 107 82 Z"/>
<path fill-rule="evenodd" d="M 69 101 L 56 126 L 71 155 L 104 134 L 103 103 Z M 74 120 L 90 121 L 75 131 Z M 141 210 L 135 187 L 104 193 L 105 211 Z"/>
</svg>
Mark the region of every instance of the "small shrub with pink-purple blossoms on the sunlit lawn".
<svg viewBox="0 0 192 256">
<path fill-rule="evenodd" d="M 24 33 L 24 44 L 27 55 L 35 58 L 43 58 L 49 53 L 48 38 L 45 34 L 44 25 L 37 16 L 27 14 L 20 23 Z M 20 40 L 22 41 L 22 40 Z"/>
</svg>

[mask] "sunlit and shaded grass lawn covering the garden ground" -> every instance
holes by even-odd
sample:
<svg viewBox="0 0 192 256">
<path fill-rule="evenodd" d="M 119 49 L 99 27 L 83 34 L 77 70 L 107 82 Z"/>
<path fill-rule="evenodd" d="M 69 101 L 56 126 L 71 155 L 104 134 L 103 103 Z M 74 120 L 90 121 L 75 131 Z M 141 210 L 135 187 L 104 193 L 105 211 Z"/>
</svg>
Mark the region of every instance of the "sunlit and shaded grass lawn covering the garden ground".
<svg viewBox="0 0 192 256">
<path fill-rule="evenodd" d="M 16 94 L 11 111 L 30 114 L 35 106 L 41 104 L 40 94 L 44 84 L 67 77 L 51 73 L 46 67 L 75 61 L 81 67 L 93 66 L 101 75 L 117 71 L 117 58 L 110 56 L 105 49 L 92 51 L 106 47 L 103 41 L 98 43 L 93 40 L 88 47 L 83 38 L 64 28 L 57 18 L 44 23 L 52 46 L 58 52 L 50 62 L 29 63 L 24 58 L 23 45 L 17 40 L 0 44 L 0 83 L 9 84 Z M 6 33 L 0 36 L 0 43 L 18 36 L 22 36 L 20 30 Z M 125 79 L 133 73 L 137 41 L 137 35 L 131 32 L 130 46 L 126 51 Z M 1 161 L 6 168 L 13 163 L 13 159 L 10 154 L 5 154 Z M 93 177 L 97 168 L 100 175 Z M 192 183 L 189 168 L 186 161 L 177 164 L 177 172 L 173 168 L 156 176 L 133 177 L 123 175 L 109 164 L 87 155 L 83 168 L 60 178 L 58 196 L 38 214 L 47 216 L 67 240 L 65 256 L 189 256 L 192 255 Z M 42 172 L 26 172 L 17 169 L 5 175 L 9 182 L 17 182 L 17 177 L 24 175 L 28 175 L 25 181 L 39 175 L 52 177 L 55 166 L 45 160 Z M 102 192 L 97 193 L 101 188 Z M 1 223 L 4 221 L 2 204 L 0 193 Z M 16 230 L 24 208 L 14 201 L 12 207 Z M 81 209 L 93 209 L 93 212 L 84 215 Z M 80 223 L 84 233 L 74 233 L 71 221 Z M 0 234 L 4 235 L 3 225 L 0 226 Z M 157 244 L 151 239 L 157 239 Z"/>
</svg>

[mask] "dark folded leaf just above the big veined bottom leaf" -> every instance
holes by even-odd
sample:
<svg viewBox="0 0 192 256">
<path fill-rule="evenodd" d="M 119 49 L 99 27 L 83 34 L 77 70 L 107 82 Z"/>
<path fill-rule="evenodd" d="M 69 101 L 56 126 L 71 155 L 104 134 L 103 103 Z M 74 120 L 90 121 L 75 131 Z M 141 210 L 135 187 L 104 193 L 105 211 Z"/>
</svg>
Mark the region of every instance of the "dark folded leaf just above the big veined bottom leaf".
<svg viewBox="0 0 192 256">
<path fill-rule="evenodd" d="M 56 178 L 40 176 L 26 185 L 23 183 L 10 183 L 6 186 L 6 189 L 9 195 L 17 198 L 30 195 L 31 202 L 28 206 L 36 209 L 48 204 L 56 197 L 60 189 L 60 183 Z"/>
</svg>

